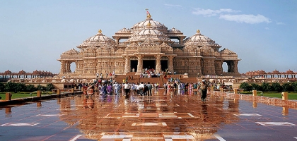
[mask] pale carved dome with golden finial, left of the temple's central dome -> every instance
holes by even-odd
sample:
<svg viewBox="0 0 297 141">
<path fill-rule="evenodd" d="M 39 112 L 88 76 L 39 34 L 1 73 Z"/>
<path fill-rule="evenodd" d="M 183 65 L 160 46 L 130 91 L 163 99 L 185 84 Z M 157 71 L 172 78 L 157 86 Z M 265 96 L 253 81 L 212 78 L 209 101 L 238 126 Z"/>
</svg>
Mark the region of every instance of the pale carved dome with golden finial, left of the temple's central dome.
<svg viewBox="0 0 297 141">
<path fill-rule="evenodd" d="M 97 35 L 89 37 L 79 46 L 90 46 L 92 44 L 115 44 L 115 41 L 112 38 L 103 35 L 102 31 L 99 30 Z"/>
</svg>

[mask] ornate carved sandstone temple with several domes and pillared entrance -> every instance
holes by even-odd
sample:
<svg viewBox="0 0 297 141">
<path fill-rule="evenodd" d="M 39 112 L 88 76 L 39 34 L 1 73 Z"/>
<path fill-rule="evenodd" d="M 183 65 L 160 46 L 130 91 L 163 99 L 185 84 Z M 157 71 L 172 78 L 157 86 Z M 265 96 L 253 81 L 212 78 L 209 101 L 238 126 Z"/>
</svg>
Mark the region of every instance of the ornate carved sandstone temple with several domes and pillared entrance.
<svg viewBox="0 0 297 141">
<path fill-rule="evenodd" d="M 113 38 L 113 39 L 112 39 Z M 123 28 L 112 38 L 103 35 L 89 37 L 76 49 L 61 54 L 59 75 L 73 77 L 94 77 L 97 73 L 140 74 L 145 68 L 156 72 L 169 71 L 178 74 L 197 75 L 240 75 L 238 55 L 222 49 L 214 40 L 197 30 L 186 38 L 174 27 L 168 30 L 164 24 L 151 18 L 136 23 L 131 28 Z M 228 70 L 223 71 L 223 63 Z M 71 71 L 71 64 L 76 65 Z"/>
</svg>

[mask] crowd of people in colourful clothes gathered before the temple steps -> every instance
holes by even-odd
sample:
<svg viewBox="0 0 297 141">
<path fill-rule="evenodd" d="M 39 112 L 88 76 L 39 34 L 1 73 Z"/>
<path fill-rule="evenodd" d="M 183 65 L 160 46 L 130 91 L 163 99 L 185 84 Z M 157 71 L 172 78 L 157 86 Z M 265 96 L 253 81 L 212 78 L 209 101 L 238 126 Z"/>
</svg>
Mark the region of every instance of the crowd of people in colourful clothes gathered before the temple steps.
<svg viewBox="0 0 297 141">
<path fill-rule="evenodd" d="M 147 70 L 146 74 L 154 73 L 153 70 Z M 131 94 L 138 94 L 139 96 L 152 96 L 152 90 L 154 92 L 158 91 L 161 87 L 158 83 L 150 83 L 150 82 L 128 82 L 129 80 L 133 79 L 131 75 L 127 76 L 122 80 L 122 82 L 117 82 L 112 77 L 104 79 L 100 77 L 96 79 L 92 83 L 79 83 L 76 85 L 78 89 L 83 90 L 83 94 L 86 97 L 93 97 L 95 92 L 102 95 L 124 95 L 125 97 L 129 97 Z M 110 74 L 109 76 L 112 76 Z M 156 75 L 158 76 L 158 75 Z M 163 88 L 166 91 L 176 91 L 176 92 L 193 92 L 194 90 L 197 91 L 198 94 L 201 95 L 202 102 L 206 101 L 207 90 L 210 87 L 214 89 L 218 86 L 215 84 L 207 83 L 205 80 L 202 82 L 196 83 L 186 83 L 181 82 L 180 78 L 173 78 L 170 75 L 164 76 L 165 82 L 163 84 Z"/>
</svg>

